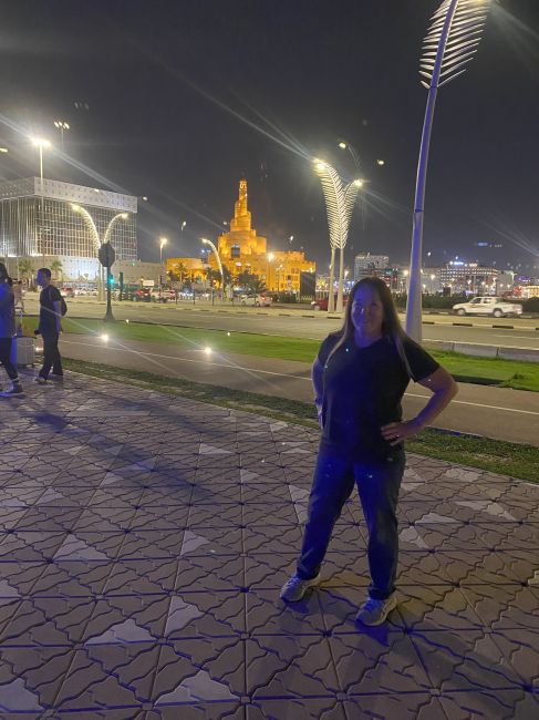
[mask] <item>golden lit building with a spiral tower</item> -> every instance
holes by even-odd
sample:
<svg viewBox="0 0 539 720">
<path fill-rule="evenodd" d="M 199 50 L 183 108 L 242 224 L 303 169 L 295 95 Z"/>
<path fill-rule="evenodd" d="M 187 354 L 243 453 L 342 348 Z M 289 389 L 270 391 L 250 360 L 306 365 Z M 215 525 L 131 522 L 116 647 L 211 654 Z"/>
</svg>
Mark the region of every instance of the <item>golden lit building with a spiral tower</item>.
<svg viewBox="0 0 539 720">
<path fill-rule="evenodd" d="M 222 265 L 232 278 L 237 278 L 241 272 L 249 272 L 263 281 L 267 289 L 271 291 L 299 292 L 300 274 L 314 272 L 317 269 L 317 264 L 307 260 L 304 253 L 296 250 L 268 253 L 267 239 L 257 235 L 257 230 L 251 225 L 245 178 L 239 182 L 239 197 L 234 205 L 230 230 L 219 235 L 217 249 Z M 208 263 L 213 269 L 217 269 L 214 254 L 209 255 Z"/>
</svg>

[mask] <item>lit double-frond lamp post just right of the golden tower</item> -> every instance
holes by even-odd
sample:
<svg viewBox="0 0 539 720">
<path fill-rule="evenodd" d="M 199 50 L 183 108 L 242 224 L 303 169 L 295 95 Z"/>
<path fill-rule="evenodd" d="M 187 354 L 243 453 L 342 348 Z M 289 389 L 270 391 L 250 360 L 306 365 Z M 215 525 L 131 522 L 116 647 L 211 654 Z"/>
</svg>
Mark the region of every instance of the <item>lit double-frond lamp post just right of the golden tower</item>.
<svg viewBox="0 0 539 720">
<path fill-rule="evenodd" d="M 335 267 L 335 250 L 340 250 L 339 286 L 336 295 L 336 311 L 342 312 L 343 308 L 343 279 L 344 279 L 344 247 L 352 220 L 355 198 L 363 186 L 362 179 L 354 179 L 343 184 L 342 178 L 334 167 L 320 160 L 314 161 L 315 171 L 322 183 L 322 192 L 328 212 L 328 225 L 330 229 L 330 295 L 328 297 L 328 311 L 333 311 L 333 276 Z"/>
</svg>

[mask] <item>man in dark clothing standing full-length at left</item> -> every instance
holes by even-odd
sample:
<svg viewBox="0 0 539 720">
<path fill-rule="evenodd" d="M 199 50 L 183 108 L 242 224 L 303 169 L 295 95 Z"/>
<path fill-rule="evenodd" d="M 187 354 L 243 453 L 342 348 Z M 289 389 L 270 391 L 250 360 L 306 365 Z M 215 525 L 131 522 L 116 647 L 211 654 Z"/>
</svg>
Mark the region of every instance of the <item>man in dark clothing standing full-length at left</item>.
<svg viewBox="0 0 539 720">
<path fill-rule="evenodd" d="M 62 332 L 62 296 L 60 290 L 51 284 L 49 268 L 40 268 L 35 281 L 42 287 L 40 294 L 40 321 L 37 333 L 43 338 L 43 367 L 39 371 L 35 381 L 44 384 L 51 368 L 54 379 L 63 379 L 62 359 L 58 348 L 58 341 Z"/>
</svg>

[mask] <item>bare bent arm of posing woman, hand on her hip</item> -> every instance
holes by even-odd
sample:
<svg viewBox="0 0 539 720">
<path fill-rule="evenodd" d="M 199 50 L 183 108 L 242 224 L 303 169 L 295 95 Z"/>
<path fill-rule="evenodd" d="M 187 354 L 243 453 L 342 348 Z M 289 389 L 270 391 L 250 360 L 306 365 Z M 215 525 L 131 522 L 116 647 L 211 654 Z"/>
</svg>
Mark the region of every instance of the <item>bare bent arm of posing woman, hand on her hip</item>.
<svg viewBox="0 0 539 720">
<path fill-rule="evenodd" d="M 406 422 L 390 422 L 382 428 L 382 436 L 390 445 L 398 445 L 403 440 L 413 438 L 428 425 L 439 413 L 447 408 L 449 402 L 458 392 L 458 387 L 453 377 L 438 368 L 424 380 L 419 380 L 419 385 L 427 388 L 433 393 L 427 404 L 412 420 Z"/>
</svg>

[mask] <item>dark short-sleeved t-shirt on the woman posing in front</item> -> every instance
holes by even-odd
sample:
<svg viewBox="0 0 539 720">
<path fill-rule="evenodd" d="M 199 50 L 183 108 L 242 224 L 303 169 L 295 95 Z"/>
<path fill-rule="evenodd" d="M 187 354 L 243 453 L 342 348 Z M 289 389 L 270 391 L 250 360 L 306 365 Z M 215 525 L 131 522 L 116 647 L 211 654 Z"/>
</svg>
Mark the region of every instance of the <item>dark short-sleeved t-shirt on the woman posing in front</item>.
<svg viewBox="0 0 539 720">
<path fill-rule="evenodd" d="M 348 457 L 376 461 L 402 453 L 391 446 L 381 428 L 402 420 L 401 401 L 410 382 L 406 367 L 391 338 L 359 348 L 351 338 L 332 333 L 318 353 L 323 372 L 322 448 Z M 412 379 L 424 380 L 439 367 L 428 352 L 403 338 Z M 331 357 L 330 357 L 331 356 Z"/>
</svg>

